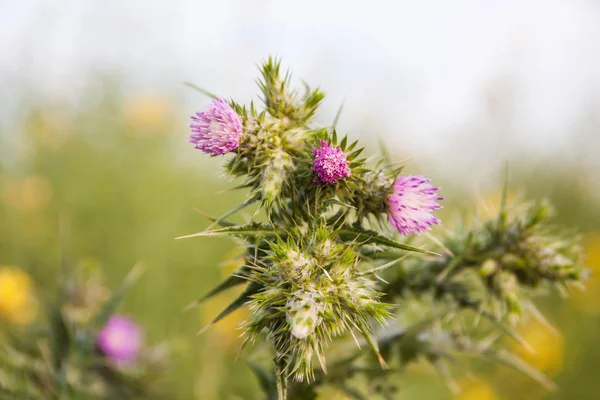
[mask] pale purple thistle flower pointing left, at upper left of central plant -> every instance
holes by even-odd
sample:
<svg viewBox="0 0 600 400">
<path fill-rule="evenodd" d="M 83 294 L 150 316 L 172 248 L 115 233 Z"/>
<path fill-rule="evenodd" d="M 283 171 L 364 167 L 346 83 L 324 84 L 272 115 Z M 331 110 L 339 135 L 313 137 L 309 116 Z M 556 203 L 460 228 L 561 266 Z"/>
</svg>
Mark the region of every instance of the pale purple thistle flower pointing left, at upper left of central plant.
<svg viewBox="0 0 600 400">
<path fill-rule="evenodd" d="M 214 100 L 206 111 L 192 116 L 190 143 L 213 156 L 225 154 L 240 144 L 242 121 L 224 100 Z"/>
</svg>

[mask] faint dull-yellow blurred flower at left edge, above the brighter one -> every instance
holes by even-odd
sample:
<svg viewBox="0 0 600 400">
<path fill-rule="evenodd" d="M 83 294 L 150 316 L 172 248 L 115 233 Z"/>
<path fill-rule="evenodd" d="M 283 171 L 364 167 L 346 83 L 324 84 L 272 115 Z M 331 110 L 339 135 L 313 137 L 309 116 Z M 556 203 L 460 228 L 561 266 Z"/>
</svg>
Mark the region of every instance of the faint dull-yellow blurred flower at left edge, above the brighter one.
<svg viewBox="0 0 600 400">
<path fill-rule="evenodd" d="M 20 211 L 38 211 L 52 199 L 52 184 L 43 176 L 27 176 L 5 182 L 2 197 L 11 207 Z"/>
</svg>

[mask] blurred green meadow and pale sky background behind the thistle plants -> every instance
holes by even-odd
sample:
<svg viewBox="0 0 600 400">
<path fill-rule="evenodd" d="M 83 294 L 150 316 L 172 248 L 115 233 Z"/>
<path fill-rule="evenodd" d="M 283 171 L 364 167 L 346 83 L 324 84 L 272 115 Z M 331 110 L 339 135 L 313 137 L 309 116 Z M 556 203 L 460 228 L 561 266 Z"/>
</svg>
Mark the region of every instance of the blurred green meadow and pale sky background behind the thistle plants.
<svg viewBox="0 0 600 400">
<path fill-rule="evenodd" d="M 317 121 L 344 102 L 341 131 L 372 152 L 383 138 L 408 172 L 439 183 L 442 217 L 497 197 L 509 161 L 512 189 L 552 200 L 597 272 L 599 20 L 593 0 L 0 0 L 0 265 L 27 272 L 42 297 L 65 240 L 109 285 L 143 262 L 122 312 L 146 341 L 171 341 L 168 398 L 261 398 L 236 362 L 243 311 L 196 336 L 235 293 L 182 313 L 235 268 L 234 244 L 173 238 L 207 226 L 196 210 L 220 215 L 244 196 L 223 192 L 222 159 L 188 145 L 189 115 L 210 99 L 184 82 L 256 100 L 256 64 L 275 55 L 296 84 L 327 92 Z M 400 398 L 598 398 L 597 273 L 585 293 L 539 304 L 560 332 L 523 326 L 536 349 L 523 356 L 558 391 L 481 365 L 457 372 L 456 395 L 415 364 Z"/>
</svg>

